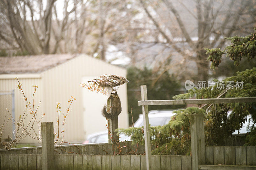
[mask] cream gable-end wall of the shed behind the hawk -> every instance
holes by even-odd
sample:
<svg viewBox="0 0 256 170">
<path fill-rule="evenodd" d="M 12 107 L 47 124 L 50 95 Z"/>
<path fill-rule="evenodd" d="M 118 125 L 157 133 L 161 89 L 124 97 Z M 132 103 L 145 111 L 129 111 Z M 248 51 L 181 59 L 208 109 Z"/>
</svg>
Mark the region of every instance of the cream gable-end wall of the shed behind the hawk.
<svg viewBox="0 0 256 170">
<path fill-rule="evenodd" d="M 47 70 L 42 73 L 42 81 L 44 84 L 44 97 L 46 102 L 45 121 L 57 122 L 56 104 L 60 102 L 62 114 L 66 114 L 68 108 L 67 100 L 70 96 L 76 97 L 76 101 L 72 103 L 69 114 L 66 118 L 64 137 L 67 141 L 84 141 L 85 136 L 96 131 L 106 130 L 105 119 L 97 108 L 90 105 L 87 108 L 83 107 L 83 88 L 79 85 L 83 77 L 97 77 L 102 74 L 117 74 L 126 77 L 126 70 L 120 67 L 113 66 L 101 60 L 80 55 L 60 66 Z M 48 80 L 48 81 L 46 81 Z M 127 87 L 120 86 L 118 94 L 121 96 L 123 111 L 119 116 L 119 126 L 128 127 L 128 111 L 127 111 Z M 56 94 L 56 95 L 52 95 Z M 47 97 L 47 96 L 51 97 Z M 97 102 L 95 98 L 97 93 L 91 93 L 86 99 Z M 101 98 L 104 96 L 100 96 Z M 105 97 L 106 98 L 106 97 Z M 85 99 L 85 100 L 86 100 Z M 107 98 L 106 98 L 107 99 Z M 101 104 L 103 107 L 104 103 Z M 96 110 L 97 113 L 86 115 L 85 110 Z M 84 115 L 85 114 L 85 115 Z M 50 115 L 50 116 L 49 116 Z M 55 117 L 52 115 L 55 115 Z M 87 118 L 86 118 L 87 117 Z M 63 122 L 63 115 L 60 116 L 60 122 Z M 84 125 L 84 126 L 83 126 Z M 55 131 L 56 131 L 55 126 Z M 60 132 L 62 129 L 60 129 Z"/>
</svg>

